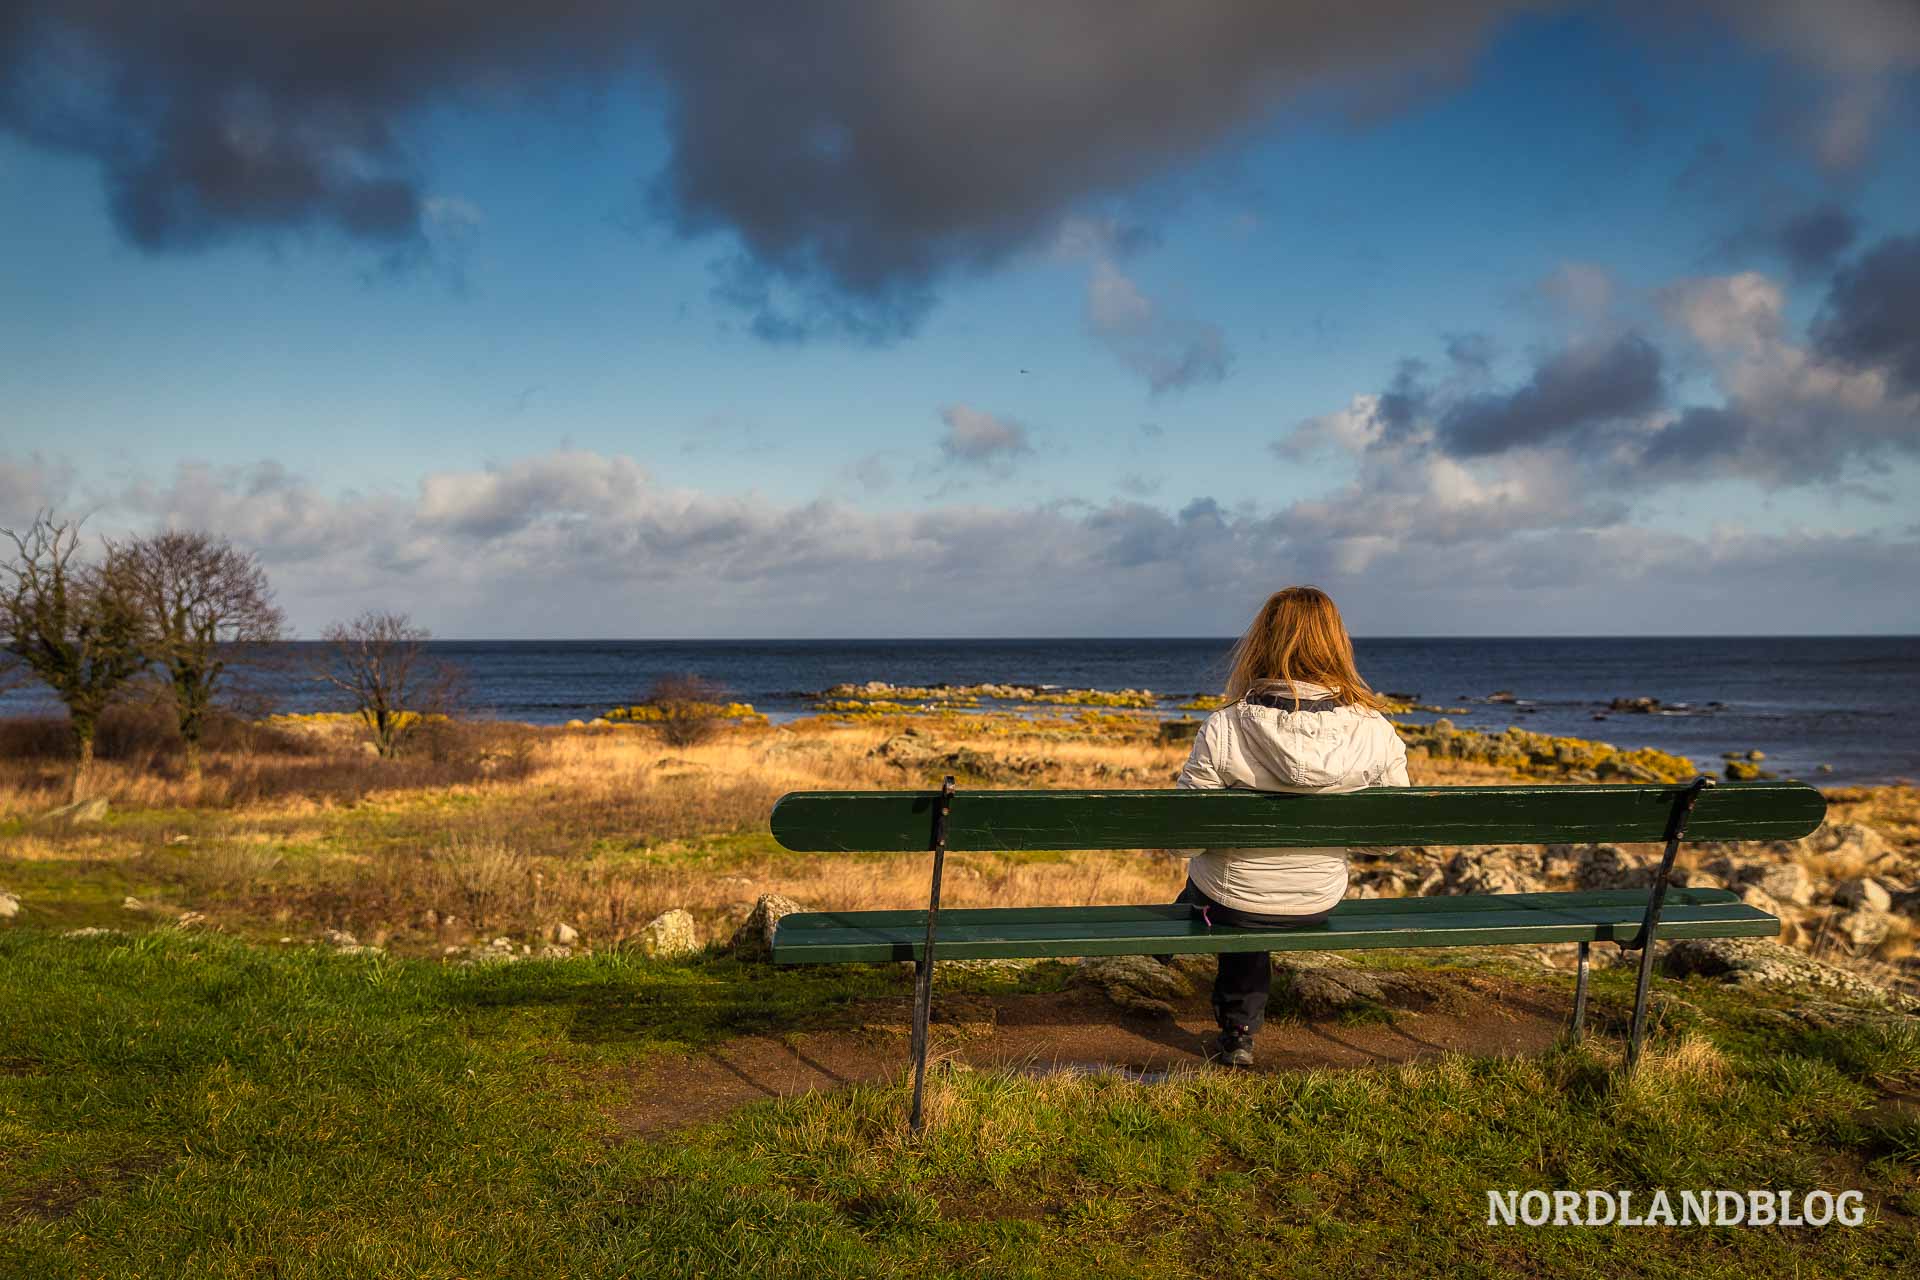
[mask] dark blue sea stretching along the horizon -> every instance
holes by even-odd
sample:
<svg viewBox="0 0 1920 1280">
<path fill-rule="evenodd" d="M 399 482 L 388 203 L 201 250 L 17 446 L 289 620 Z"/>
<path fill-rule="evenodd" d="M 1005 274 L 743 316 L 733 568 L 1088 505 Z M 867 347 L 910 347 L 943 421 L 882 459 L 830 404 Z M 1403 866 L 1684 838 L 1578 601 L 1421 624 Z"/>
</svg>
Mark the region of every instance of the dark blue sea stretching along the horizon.
<svg viewBox="0 0 1920 1280">
<path fill-rule="evenodd" d="M 1020 683 L 1152 689 L 1167 714 L 1217 693 L 1229 637 L 1204 639 L 808 639 L 808 641 L 432 641 L 465 674 L 474 714 L 530 723 L 591 720 L 639 700 L 653 679 L 695 672 L 774 722 L 808 714 L 837 683 Z M 311 677 L 317 643 L 280 647 L 263 681 L 278 710 L 336 710 Z M 1382 693 L 1442 706 L 1455 725 L 1659 747 L 1720 768 L 1759 750 L 1763 768 L 1822 785 L 1920 779 L 1920 637 L 1356 639 Z M 1169 697 L 1171 695 L 1171 697 Z M 1498 697 L 1496 697 L 1498 695 Z M 1649 697 L 1653 714 L 1609 710 Z M 33 689 L 0 714 L 50 712 Z M 1826 768 L 1822 768 L 1826 766 Z"/>
</svg>

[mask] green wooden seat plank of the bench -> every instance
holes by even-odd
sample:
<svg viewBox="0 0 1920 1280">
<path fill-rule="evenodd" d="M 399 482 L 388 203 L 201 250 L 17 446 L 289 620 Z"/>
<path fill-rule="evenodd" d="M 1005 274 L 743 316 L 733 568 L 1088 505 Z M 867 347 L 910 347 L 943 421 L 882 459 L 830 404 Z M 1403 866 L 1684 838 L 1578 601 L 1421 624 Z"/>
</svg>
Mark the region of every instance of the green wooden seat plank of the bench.
<svg viewBox="0 0 1920 1280">
<path fill-rule="evenodd" d="M 1534 894 L 1551 898 L 1553 894 Z M 1379 900 L 1348 904 L 1373 906 Z M 1455 898 L 1453 902 L 1463 902 Z M 1311 929 L 1208 929 L 1198 919 L 1158 915 L 1150 919 L 1098 919 L 1106 908 L 1054 908 L 1050 921 L 977 921 L 973 912 L 943 912 L 939 954 L 952 960 L 1064 958 L 1064 956 L 1160 956 L 1185 952 L 1336 952 L 1417 946 L 1505 946 L 1519 942 L 1607 942 L 1640 929 L 1645 904 L 1532 906 L 1515 910 L 1461 910 L 1409 915 L 1404 912 L 1348 912 Z M 860 912 L 839 913 L 854 921 Z M 776 963 L 879 963 L 916 960 L 925 942 L 918 927 L 889 917 L 837 927 L 787 927 L 774 938 Z M 1663 938 L 1764 938 L 1780 921 L 1743 902 L 1676 904 L 1661 919 Z"/>
</svg>

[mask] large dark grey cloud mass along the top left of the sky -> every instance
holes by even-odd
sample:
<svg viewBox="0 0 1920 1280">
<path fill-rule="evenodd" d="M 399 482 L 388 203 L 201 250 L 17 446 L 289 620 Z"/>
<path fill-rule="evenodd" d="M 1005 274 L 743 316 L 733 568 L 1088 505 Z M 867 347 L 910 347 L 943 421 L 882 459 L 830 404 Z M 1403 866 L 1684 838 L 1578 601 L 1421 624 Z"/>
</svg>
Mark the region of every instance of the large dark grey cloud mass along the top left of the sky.
<svg viewBox="0 0 1920 1280">
<path fill-rule="evenodd" d="M 0 0 L 0 129 L 102 165 L 146 249 L 330 228 L 417 242 L 432 107 L 639 81 L 653 209 L 732 234 L 756 334 L 876 340 L 948 271 L 1052 234 L 1302 92 L 1461 75 L 1521 0 Z M 1206 378 L 1204 336 L 1156 376 Z"/>
</svg>

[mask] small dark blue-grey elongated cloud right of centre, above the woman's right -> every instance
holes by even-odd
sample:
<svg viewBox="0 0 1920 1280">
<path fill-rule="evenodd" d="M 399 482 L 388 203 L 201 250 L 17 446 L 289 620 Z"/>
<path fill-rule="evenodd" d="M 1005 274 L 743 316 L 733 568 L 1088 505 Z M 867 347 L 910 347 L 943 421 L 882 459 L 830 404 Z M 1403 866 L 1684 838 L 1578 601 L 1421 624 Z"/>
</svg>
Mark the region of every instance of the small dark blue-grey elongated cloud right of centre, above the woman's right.
<svg viewBox="0 0 1920 1280">
<path fill-rule="evenodd" d="M 1459 457 L 1563 443 L 1649 413 L 1663 395 L 1661 353 L 1640 334 L 1580 344 L 1542 361 L 1515 391 L 1453 405 L 1440 420 L 1440 443 Z"/>
</svg>

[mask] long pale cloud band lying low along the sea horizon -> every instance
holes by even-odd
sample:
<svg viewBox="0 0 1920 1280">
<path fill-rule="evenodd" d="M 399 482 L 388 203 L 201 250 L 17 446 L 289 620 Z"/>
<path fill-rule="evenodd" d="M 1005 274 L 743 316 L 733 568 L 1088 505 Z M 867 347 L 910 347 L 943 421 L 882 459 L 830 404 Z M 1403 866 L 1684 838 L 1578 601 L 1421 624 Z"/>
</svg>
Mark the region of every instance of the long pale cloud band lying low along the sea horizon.
<svg viewBox="0 0 1920 1280">
<path fill-rule="evenodd" d="M 1920 628 L 1920 603 L 1895 589 L 1912 533 L 1693 537 L 1588 501 L 1540 455 L 1409 466 L 1390 453 L 1350 489 L 1273 510 L 1208 497 L 858 510 L 672 489 L 593 453 L 396 493 L 324 493 L 271 462 L 182 466 L 123 489 L 92 526 L 234 537 L 307 635 L 369 606 L 451 637 L 1227 635 L 1288 581 L 1321 581 L 1373 635 L 1667 631 L 1682 606 L 1711 629 L 1774 631 L 1786 597 L 1799 618 Z"/>
</svg>

